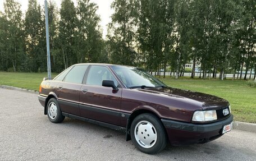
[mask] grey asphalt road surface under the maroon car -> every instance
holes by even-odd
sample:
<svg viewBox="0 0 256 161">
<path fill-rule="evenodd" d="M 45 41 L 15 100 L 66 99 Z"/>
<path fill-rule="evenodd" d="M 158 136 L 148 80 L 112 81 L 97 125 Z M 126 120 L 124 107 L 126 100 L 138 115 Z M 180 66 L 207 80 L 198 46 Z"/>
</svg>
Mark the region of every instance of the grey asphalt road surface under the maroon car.
<svg viewBox="0 0 256 161">
<path fill-rule="evenodd" d="M 36 94 L 0 89 L 0 160 L 256 160 L 256 134 L 232 130 L 148 155 L 122 132 L 70 118 L 51 123 Z"/>
</svg>

